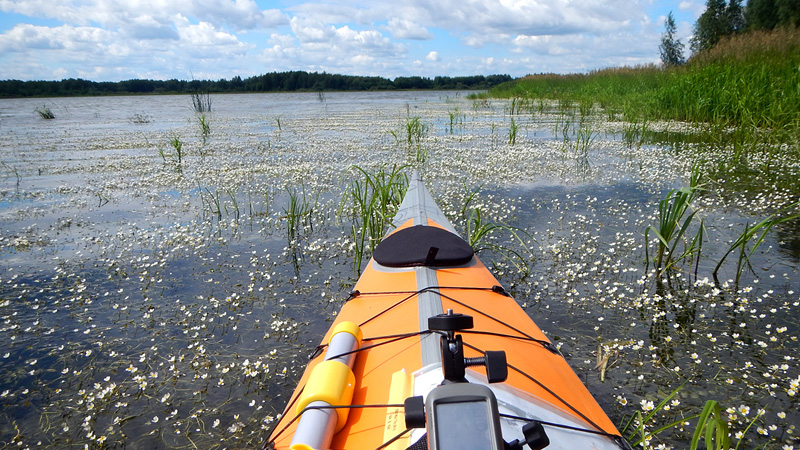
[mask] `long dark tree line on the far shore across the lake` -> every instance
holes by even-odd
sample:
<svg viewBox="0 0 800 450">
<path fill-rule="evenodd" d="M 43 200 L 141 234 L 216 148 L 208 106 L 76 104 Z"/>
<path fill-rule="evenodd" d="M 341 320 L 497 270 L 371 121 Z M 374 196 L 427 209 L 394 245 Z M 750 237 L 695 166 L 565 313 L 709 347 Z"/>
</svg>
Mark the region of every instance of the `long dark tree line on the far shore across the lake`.
<svg viewBox="0 0 800 450">
<path fill-rule="evenodd" d="M 0 97 L 61 97 L 88 95 L 180 94 L 192 92 L 293 92 L 375 91 L 396 89 L 489 89 L 511 81 L 509 75 L 466 77 L 382 77 L 335 75 L 316 72 L 273 72 L 230 80 L 126 80 L 96 82 L 83 79 L 61 81 L 0 80 Z"/>
</svg>

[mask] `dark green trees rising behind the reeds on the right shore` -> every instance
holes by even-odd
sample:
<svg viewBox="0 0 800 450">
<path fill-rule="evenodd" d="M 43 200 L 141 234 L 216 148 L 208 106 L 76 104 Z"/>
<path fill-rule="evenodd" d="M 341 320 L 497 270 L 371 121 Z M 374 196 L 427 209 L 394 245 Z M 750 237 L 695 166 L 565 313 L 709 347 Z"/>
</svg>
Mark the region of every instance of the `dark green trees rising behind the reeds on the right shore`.
<svg viewBox="0 0 800 450">
<path fill-rule="evenodd" d="M 664 23 L 659 53 L 666 66 L 678 66 L 684 44 L 675 37 L 675 18 L 670 11 Z M 727 36 L 753 30 L 773 30 L 780 27 L 800 27 L 800 0 L 707 0 L 706 10 L 694 24 L 689 42 L 692 54 L 710 50 Z"/>
</svg>

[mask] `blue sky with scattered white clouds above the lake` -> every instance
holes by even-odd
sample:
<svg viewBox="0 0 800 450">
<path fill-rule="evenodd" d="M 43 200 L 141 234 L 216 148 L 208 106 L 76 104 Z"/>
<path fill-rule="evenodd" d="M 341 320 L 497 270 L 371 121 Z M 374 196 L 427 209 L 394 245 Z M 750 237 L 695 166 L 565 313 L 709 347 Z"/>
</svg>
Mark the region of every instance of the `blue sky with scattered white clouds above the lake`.
<svg viewBox="0 0 800 450">
<path fill-rule="evenodd" d="M 672 11 L 705 1 L 0 0 L 0 79 L 387 78 L 586 72 L 658 63 Z"/>
</svg>

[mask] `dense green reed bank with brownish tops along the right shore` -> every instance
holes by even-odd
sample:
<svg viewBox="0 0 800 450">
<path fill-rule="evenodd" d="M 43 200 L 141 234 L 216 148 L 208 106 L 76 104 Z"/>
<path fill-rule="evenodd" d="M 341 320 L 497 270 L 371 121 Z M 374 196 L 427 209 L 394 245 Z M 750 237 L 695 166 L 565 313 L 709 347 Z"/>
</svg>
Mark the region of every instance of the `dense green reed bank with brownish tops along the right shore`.
<svg viewBox="0 0 800 450">
<path fill-rule="evenodd" d="M 678 121 L 722 127 L 733 139 L 800 142 L 800 29 L 752 31 L 720 41 L 687 64 L 530 75 L 486 97 L 600 106 L 628 122 Z M 478 94 L 480 98 L 484 94 Z"/>
</svg>

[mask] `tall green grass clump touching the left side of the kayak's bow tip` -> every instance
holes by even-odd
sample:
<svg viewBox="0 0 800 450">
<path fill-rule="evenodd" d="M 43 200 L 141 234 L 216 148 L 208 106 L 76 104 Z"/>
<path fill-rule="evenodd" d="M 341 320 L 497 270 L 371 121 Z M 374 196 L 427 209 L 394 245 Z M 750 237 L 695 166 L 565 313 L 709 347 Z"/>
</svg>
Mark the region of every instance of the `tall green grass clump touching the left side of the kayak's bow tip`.
<svg viewBox="0 0 800 450">
<path fill-rule="evenodd" d="M 362 178 L 355 178 L 350 183 L 342 205 L 351 205 L 346 207 L 352 208 L 349 213 L 355 273 L 361 272 L 362 261 L 375 250 L 403 201 L 408 190 L 408 176 L 403 172 L 406 167 L 393 165 L 391 170 L 387 170 L 381 166 L 375 172 L 368 172 L 353 166 Z"/>
</svg>

